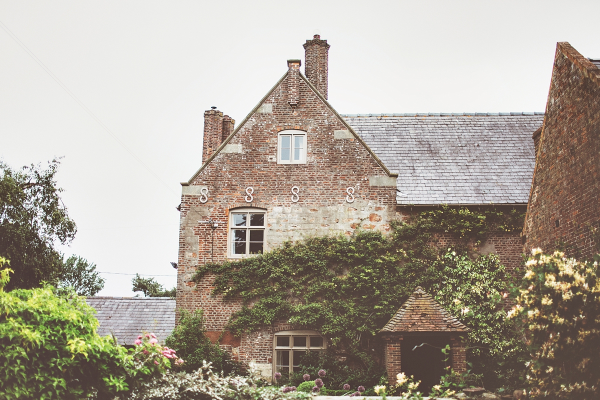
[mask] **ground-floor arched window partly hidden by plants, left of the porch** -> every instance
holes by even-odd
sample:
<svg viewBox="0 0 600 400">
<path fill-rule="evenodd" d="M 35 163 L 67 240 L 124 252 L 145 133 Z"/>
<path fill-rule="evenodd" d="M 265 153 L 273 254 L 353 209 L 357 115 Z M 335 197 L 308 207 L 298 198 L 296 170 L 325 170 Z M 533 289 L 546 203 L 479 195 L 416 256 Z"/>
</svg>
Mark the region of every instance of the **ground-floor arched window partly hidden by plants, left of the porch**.
<svg viewBox="0 0 600 400">
<path fill-rule="evenodd" d="M 273 336 L 274 373 L 300 370 L 300 358 L 307 351 L 325 350 L 325 339 L 316 330 L 284 330 Z"/>
</svg>

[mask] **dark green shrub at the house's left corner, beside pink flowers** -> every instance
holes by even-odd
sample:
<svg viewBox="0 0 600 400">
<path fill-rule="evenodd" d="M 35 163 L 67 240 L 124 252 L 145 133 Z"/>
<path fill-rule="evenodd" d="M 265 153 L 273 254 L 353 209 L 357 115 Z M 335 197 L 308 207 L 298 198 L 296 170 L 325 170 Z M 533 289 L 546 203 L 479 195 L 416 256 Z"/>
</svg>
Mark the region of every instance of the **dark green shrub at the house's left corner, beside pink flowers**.
<svg viewBox="0 0 600 400">
<path fill-rule="evenodd" d="M 238 363 L 234 362 L 226 351 L 217 344 L 212 344 L 205 335 L 205 320 L 202 310 L 188 312 L 181 310 L 179 324 L 165 340 L 165 344 L 177 351 L 179 357 L 185 360 L 179 369 L 193 372 L 203 363 L 211 362 L 214 369 L 229 375 L 239 372 Z"/>
</svg>

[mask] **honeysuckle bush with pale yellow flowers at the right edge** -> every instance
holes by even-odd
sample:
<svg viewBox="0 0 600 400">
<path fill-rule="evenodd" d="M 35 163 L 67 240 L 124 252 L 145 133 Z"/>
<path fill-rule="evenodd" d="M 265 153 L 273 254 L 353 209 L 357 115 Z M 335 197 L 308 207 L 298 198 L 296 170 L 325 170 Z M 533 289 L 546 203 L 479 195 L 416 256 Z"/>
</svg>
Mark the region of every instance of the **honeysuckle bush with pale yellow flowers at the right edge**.
<svg viewBox="0 0 600 400">
<path fill-rule="evenodd" d="M 562 252 L 532 251 L 509 318 L 530 351 L 535 398 L 600 396 L 600 255 L 578 262 Z"/>
</svg>

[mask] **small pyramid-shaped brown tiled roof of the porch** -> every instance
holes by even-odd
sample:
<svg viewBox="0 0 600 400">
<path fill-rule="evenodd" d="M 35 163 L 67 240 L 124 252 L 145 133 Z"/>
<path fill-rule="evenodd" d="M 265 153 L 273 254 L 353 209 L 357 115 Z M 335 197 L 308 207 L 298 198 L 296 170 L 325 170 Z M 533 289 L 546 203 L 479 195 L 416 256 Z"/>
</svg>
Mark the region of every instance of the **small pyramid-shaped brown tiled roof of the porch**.
<svg viewBox="0 0 600 400">
<path fill-rule="evenodd" d="M 436 300 L 418 286 L 396 315 L 379 332 L 468 332 Z"/>
</svg>

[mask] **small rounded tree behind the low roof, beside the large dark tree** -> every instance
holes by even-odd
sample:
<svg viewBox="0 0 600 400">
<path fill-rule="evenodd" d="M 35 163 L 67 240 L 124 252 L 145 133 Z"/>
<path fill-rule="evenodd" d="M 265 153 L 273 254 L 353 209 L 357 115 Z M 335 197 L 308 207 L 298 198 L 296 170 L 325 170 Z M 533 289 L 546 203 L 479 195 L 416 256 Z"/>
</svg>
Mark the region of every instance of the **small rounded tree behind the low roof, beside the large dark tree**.
<svg viewBox="0 0 600 400">
<path fill-rule="evenodd" d="M 85 258 L 71 255 L 62 263 L 58 273 L 58 287 L 71 287 L 79 296 L 95 296 L 104 287 L 104 279 L 96 272 L 96 265 Z"/>
</svg>

